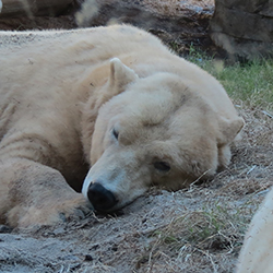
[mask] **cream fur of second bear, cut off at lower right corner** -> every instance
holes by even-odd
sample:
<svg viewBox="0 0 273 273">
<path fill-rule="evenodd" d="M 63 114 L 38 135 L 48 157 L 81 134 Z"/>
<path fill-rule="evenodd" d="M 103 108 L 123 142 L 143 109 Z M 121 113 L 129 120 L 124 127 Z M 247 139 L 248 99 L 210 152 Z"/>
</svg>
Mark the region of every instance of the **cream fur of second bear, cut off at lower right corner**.
<svg viewBox="0 0 273 273">
<path fill-rule="evenodd" d="M 246 234 L 236 273 L 273 271 L 273 189 L 254 214 Z"/>
</svg>

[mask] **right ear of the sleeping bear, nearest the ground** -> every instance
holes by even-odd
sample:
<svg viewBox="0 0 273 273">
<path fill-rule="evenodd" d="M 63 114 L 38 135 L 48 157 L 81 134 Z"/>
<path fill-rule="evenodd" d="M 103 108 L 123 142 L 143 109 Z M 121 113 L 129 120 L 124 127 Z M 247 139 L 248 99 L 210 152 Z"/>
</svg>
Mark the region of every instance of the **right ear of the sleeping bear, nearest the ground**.
<svg viewBox="0 0 273 273">
<path fill-rule="evenodd" d="M 218 119 L 219 124 L 219 135 L 217 139 L 218 145 L 226 145 L 234 141 L 236 135 L 242 129 L 245 122 L 242 118 L 237 118 L 235 120 L 227 120 L 223 117 Z"/>
</svg>

